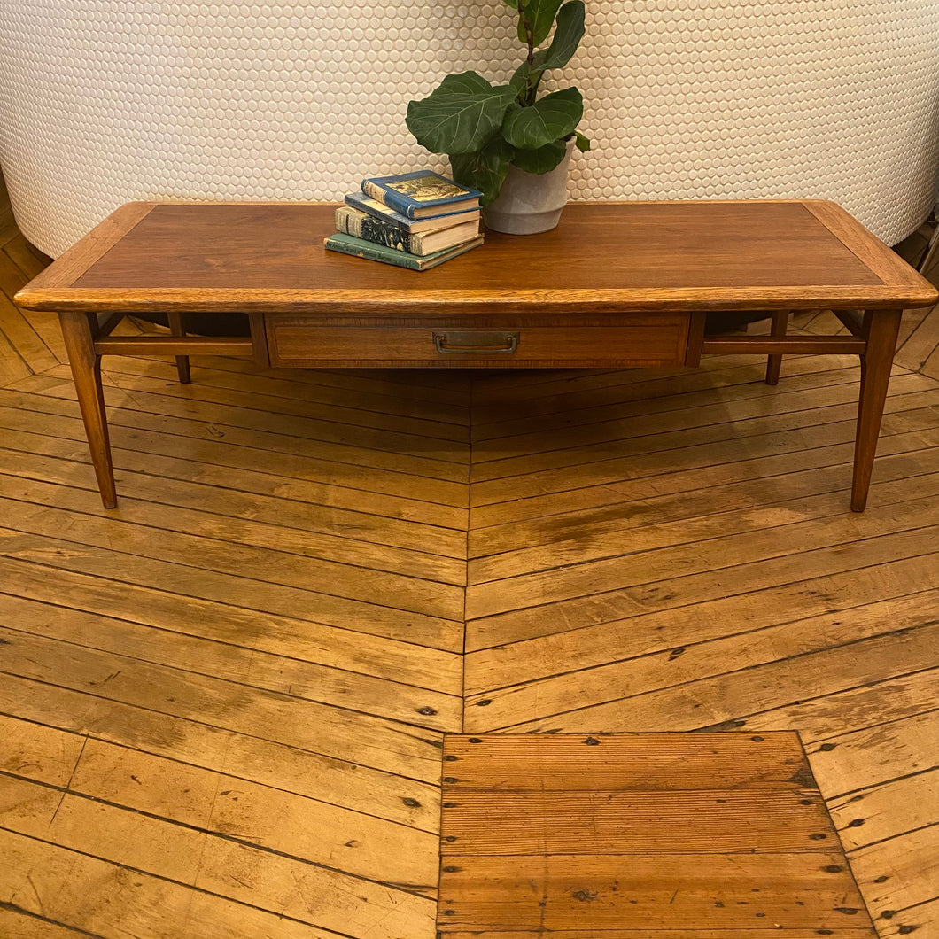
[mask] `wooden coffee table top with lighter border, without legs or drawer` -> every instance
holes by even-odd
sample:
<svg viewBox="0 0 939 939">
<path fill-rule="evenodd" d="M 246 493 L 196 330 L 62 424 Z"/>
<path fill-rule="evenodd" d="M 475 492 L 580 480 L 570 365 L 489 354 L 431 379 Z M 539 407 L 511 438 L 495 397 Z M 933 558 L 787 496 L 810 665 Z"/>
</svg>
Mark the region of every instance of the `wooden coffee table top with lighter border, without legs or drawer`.
<svg viewBox="0 0 939 939">
<path fill-rule="evenodd" d="M 935 288 L 834 203 L 572 203 L 417 272 L 324 250 L 334 205 L 132 203 L 19 295 L 41 310 L 593 313 L 916 307 Z"/>
</svg>

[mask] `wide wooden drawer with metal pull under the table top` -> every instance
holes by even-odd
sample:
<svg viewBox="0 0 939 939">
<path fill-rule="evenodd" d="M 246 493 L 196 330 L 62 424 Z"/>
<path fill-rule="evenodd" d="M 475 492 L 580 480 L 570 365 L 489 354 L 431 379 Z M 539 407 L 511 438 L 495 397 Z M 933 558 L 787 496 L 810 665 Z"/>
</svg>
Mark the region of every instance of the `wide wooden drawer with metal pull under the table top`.
<svg viewBox="0 0 939 939">
<path fill-rule="evenodd" d="M 403 324 L 324 322 L 269 315 L 270 364 L 286 367 L 411 366 L 558 368 L 678 365 L 685 362 L 688 316 L 630 316 L 611 322 L 521 326 L 439 320 Z"/>
</svg>

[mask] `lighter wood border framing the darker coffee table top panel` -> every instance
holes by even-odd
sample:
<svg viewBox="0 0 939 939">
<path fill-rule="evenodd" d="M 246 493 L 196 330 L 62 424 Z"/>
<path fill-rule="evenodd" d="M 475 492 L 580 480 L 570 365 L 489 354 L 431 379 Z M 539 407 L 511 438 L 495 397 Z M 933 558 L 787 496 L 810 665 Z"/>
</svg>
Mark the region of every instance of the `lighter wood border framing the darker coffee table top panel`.
<svg viewBox="0 0 939 939">
<path fill-rule="evenodd" d="M 440 315 L 458 312 L 463 315 L 523 313 L 574 313 L 585 304 L 594 313 L 625 313 L 634 310 L 673 312 L 676 310 L 785 309 L 837 306 L 839 308 L 913 308 L 928 306 L 939 300 L 936 289 L 883 242 L 871 235 L 842 208 L 822 200 L 714 200 L 707 203 L 572 203 L 623 207 L 649 206 L 801 206 L 830 232 L 869 272 L 866 284 L 808 284 L 762 286 L 682 286 L 624 287 L 617 289 L 513 289 L 511 286 L 467 287 L 454 289 L 446 279 L 429 277 L 446 265 L 422 274 L 412 271 L 407 282 L 381 289 L 359 285 L 311 287 L 186 287 L 186 286 L 75 286 L 89 269 L 115 248 L 138 224 L 161 206 L 311 206 L 329 207 L 332 203 L 193 203 L 135 202 L 118 208 L 96 226 L 69 252 L 43 271 L 17 296 L 17 302 L 33 310 L 81 310 L 144 312 L 166 311 L 213 312 L 234 308 L 246 312 L 274 312 L 304 309 L 336 315 L 360 313 L 374 315 L 377 311 L 391 315 L 403 313 L 415 305 L 422 313 Z M 480 249 L 485 251 L 485 247 Z M 472 253 L 470 253 L 472 254 Z M 469 256 L 469 255 L 465 255 Z M 457 259 L 458 261 L 459 259 Z M 364 262 L 337 257 L 337 262 Z M 451 262 L 456 263 L 456 262 Z M 681 263 L 676 258 L 675 263 Z M 392 269 L 394 274 L 399 272 Z M 402 287 L 401 284 L 405 286 Z"/>
</svg>

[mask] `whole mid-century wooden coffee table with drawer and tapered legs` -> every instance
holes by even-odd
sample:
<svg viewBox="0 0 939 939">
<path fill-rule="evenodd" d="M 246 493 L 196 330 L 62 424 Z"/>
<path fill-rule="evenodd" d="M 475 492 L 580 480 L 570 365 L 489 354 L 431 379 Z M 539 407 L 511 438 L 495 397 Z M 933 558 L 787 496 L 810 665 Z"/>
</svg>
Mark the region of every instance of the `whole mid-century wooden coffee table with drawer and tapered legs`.
<svg viewBox="0 0 939 939">
<path fill-rule="evenodd" d="M 935 288 L 831 202 L 574 203 L 553 231 L 489 233 L 423 272 L 326 252 L 333 205 L 131 203 L 17 295 L 54 311 L 98 478 L 116 504 L 102 355 L 253 356 L 300 368 L 694 366 L 702 353 L 853 353 L 861 382 L 851 508 L 867 503 L 901 312 Z M 787 336 L 834 309 L 850 335 Z M 244 311 L 251 338 L 191 336 L 188 313 Z M 709 311 L 766 311 L 769 336 L 705 338 Z M 113 336 L 164 312 L 171 335 Z"/>
</svg>

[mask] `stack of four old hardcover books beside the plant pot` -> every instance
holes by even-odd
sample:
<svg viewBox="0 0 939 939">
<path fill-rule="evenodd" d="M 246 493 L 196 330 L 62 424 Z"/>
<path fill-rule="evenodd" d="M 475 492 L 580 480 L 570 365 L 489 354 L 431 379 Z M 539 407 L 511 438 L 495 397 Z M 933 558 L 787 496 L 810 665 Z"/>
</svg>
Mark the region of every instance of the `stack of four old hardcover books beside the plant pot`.
<svg viewBox="0 0 939 939">
<path fill-rule="evenodd" d="M 329 251 L 426 270 L 483 243 L 481 192 L 429 170 L 362 180 L 336 209 Z"/>
</svg>

